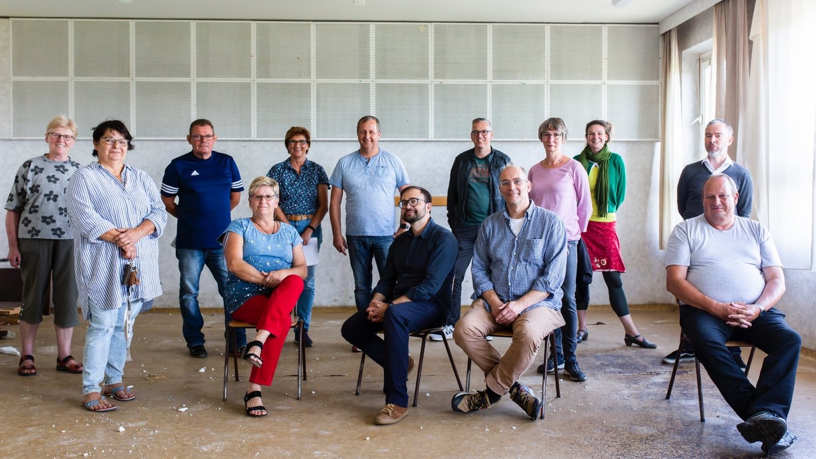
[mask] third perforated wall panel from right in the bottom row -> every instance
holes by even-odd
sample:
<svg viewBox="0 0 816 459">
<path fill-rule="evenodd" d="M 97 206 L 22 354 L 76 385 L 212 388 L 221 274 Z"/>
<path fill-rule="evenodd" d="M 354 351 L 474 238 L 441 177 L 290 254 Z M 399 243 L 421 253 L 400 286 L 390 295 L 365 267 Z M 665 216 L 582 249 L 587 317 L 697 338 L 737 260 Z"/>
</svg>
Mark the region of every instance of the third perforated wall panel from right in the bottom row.
<svg viewBox="0 0 816 459">
<path fill-rule="evenodd" d="M 496 139 L 536 139 L 547 117 L 547 86 L 493 85 L 490 108 Z"/>
</svg>

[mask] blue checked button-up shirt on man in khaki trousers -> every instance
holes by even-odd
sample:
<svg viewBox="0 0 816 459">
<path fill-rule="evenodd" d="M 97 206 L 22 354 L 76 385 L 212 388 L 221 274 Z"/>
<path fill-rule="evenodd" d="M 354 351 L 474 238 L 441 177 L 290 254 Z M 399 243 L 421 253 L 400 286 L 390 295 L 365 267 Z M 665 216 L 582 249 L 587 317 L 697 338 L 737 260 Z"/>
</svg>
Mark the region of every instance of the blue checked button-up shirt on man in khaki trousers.
<svg viewBox="0 0 816 459">
<path fill-rule="evenodd" d="M 550 295 L 521 314 L 541 306 L 561 310 L 566 256 L 566 232 L 557 214 L 530 201 L 516 236 L 507 209 L 496 212 L 481 224 L 473 246 L 471 299 L 494 290 L 502 302 L 509 302 L 530 290 L 539 290 Z M 485 307 L 490 311 L 487 302 Z"/>
</svg>

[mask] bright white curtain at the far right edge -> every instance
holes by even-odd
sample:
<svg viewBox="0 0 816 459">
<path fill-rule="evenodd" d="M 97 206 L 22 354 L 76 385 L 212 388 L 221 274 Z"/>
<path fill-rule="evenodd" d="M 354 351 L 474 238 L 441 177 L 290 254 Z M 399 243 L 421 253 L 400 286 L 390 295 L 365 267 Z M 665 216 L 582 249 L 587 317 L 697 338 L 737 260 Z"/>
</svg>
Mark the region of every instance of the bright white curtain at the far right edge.
<svg viewBox="0 0 816 459">
<path fill-rule="evenodd" d="M 744 162 L 754 177 L 754 209 L 774 236 L 785 267 L 812 269 L 816 138 L 816 2 L 757 0 Z"/>
</svg>

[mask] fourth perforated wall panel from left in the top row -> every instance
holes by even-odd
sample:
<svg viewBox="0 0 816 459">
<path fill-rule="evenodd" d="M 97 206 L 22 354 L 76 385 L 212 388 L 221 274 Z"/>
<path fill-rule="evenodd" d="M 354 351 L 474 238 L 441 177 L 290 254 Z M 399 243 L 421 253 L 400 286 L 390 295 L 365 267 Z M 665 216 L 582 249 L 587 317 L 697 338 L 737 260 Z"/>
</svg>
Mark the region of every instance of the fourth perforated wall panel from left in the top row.
<svg viewBox="0 0 816 459">
<path fill-rule="evenodd" d="M 196 77 L 252 77 L 252 24 L 196 22 Z"/>
</svg>

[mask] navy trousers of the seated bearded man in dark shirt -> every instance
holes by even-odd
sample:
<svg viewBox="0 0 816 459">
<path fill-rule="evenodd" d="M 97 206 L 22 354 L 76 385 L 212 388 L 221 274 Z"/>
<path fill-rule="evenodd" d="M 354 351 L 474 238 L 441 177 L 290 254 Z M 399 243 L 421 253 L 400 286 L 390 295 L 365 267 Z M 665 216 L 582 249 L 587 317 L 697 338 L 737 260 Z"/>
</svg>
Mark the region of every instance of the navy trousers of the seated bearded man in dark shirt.
<svg viewBox="0 0 816 459">
<path fill-rule="evenodd" d="M 344 322 L 343 338 L 383 367 L 385 403 L 408 407 L 408 333 L 440 326 L 447 312 L 433 302 L 403 302 L 388 307 L 382 322 L 368 320 L 366 311 Z"/>
</svg>

